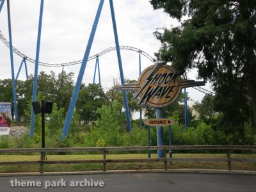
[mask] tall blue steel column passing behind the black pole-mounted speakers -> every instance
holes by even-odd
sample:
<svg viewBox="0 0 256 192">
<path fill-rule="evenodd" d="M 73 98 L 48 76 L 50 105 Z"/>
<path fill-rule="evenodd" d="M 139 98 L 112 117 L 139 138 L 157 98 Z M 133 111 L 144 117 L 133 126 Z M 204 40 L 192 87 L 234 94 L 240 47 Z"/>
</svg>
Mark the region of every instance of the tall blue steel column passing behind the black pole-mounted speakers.
<svg viewBox="0 0 256 192">
<path fill-rule="evenodd" d="M 43 11 L 44 11 L 44 0 L 41 0 L 39 23 L 38 23 L 37 43 L 36 43 L 36 61 L 35 61 L 35 75 L 34 75 L 34 83 L 33 83 L 32 102 L 36 101 L 37 76 L 38 76 L 38 65 L 39 65 L 39 53 L 40 53 Z M 31 137 L 33 137 L 33 134 L 34 134 L 34 124 L 35 124 L 35 113 L 33 111 L 33 108 L 31 108 L 31 125 L 30 125 L 30 136 Z"/>
</svg>

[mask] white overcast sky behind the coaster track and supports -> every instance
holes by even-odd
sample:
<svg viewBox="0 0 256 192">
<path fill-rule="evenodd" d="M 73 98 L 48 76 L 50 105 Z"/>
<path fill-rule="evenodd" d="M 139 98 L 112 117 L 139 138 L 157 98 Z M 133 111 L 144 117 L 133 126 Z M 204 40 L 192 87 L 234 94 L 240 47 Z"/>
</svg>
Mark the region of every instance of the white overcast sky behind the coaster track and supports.
<svg viewBox="0 0 256 192">
<path fill-rule="evenodd" d="M 42 24 L 42 38 L 40 61 L 47 63 L 64 63 L 81 60 L 92 29 L 93 20 L 99 0 L 45 0 Z M 114 0 L 116 24 L 120 45 L 137 47 L 154 57 L 161 44 L 153 33 L 157 28 L 170 28 L 179 25 L 177 20 L 163 12 L 153 10 L 148 0 Z M 35 58 L 36 38 L 40 0 L 12 0 L 10 1 L 12 17 L 13 46 L 27 56 Z M 0 29 L 8 38 L 8 22 L 6 2 L 0 13 Z M 99 25 L 95 34 L 90 56 L 97 54 L 108 47 L 115 46 L 109 1 L 105 1 Z M 124 75 L 129 79 L 138 79 L 138 53 L 121 51 Z M 14 54 L 15 74 L 22 58 Z M 104 90 L 113 84 L 113 78 L 120 78 L 116 52 L 101 56 L 100 74 Z M 152 62 L 141 58 L 142 70 Z M 0 78 L 11 78 L 10 51 L 0 42 Z M 28 63 L 29 74 L 35 70 L 33 63 Z M 83 82 L 92 83 L 95 60 L 88 61 Z M 65 67 L 66 72 L 74 72 L 75 81 L 80 65 Z M 39 71 L 60 73 L 62 68 L 39 67 Z M 196 79 L 196 70 L 189 72 L 189 79 Z M 22 68 L 19 79 L 25 79 L 25 70 Z M 96 79 L 99 82 L 98 77 Z M 205 86 L 209 89 L 209 84 Z M 189 97 L 201 100 L 204 97 L 192 88 L 188 88 Z"/>
</svg>

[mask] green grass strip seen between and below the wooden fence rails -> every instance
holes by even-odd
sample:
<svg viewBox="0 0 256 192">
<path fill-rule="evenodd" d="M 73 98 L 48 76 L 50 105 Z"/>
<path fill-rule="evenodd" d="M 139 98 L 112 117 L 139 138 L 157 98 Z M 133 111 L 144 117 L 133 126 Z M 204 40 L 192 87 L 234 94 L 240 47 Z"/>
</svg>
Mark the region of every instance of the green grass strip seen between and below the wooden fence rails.
<svg viewBox="0 0 256 192">
<path fill-rule="evenodd" d="M 140 159 L 147 158 L 147 154 L 109 154 L 107 159 Z M 156 157 L 156 154 L 152 154 Z M 212 157 L 227 158 L 227 154 L 173 154 L 174 158 L 180 157 Z M 237 158 L 256 158 L 256 154 L 231 154 L 231 157 Z M 81 159 L 102 159 L 102 155 L 49 155 L 47 160 L 81 160 Z M 1 155 L 0 161 L 38 161 L 40 155 Z M 157 163 L 108 163 L 107 170 L 127 170 L 127 169 L 161 169 L 163 162 Z M 168 164 L 169 169 L 194 168 L 194 169 L 221 169 L 227 170 L 227 163 L 221 162 L 190 162 Z M 102 170 L 102 164 L 45 164 L 44 172 L 74 172 L 74 171 L 92 171 Z M 256 170 L 256 163 L 232 163 L 232 170 Z M 31 165 L 11 165 L 0 166 L 1 173 L 7 172 L 39 172 L 38 164 Z"/>
</svg>

